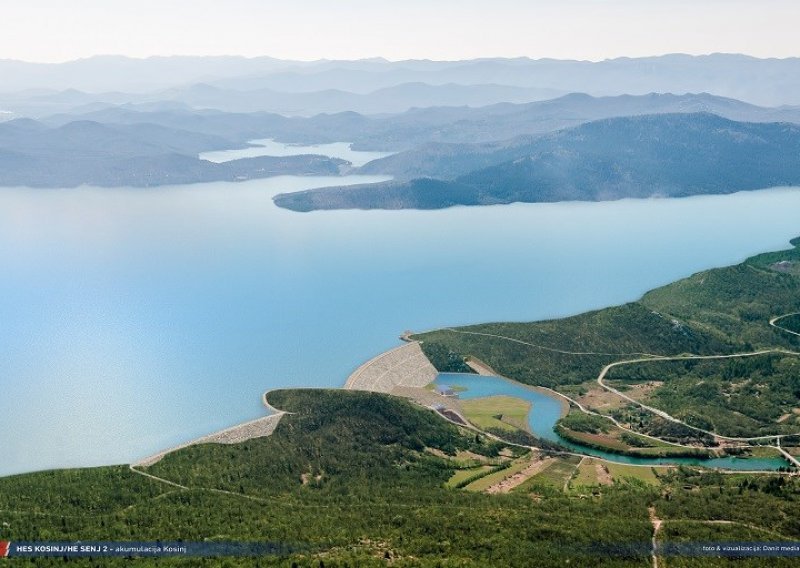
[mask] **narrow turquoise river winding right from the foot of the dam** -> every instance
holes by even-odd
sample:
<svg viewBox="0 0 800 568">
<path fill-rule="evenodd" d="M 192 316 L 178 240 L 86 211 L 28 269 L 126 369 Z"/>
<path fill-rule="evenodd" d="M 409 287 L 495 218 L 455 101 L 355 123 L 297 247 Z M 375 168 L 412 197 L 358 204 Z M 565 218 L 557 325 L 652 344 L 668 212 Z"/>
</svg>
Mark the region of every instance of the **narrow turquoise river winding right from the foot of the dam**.
<svg viewBox="0 0 800 568">
<path fill-rule="evenodd" d="M 594 448 L 574 444 L 569 440 L 565 440 L 555 432 L 554 427 L 556 421 L 561 417 L 562 410 L 562 401 L 555 395 L 550 395 L 546 392 L 535 390 L 500 377 L 482 377 L 461 373 L 442 373 L 439 375 L 436 383 L 440 385 L 458 386 L 466 389 L 458 393 L 459 398 L 464 400 L 497 395 L 512 396 L 527 400 L 531 403 L 531 411 L 528 414 L 528 425 L 530 426 L 531 432 L 536 436 L 545 440 L 550 440 L 551 442 L 556 442 L 582 454 L 598 456 L 618 463 L 634 465 L 703 465 L 705 467 L 720 467 L 739 471 L 775 470 L 788 465 L 786 460 L 782 458 L 742 459 L 725 457 L 708 460 L 694 458 L 640 458 L 603 452 Z"/>
</svg>

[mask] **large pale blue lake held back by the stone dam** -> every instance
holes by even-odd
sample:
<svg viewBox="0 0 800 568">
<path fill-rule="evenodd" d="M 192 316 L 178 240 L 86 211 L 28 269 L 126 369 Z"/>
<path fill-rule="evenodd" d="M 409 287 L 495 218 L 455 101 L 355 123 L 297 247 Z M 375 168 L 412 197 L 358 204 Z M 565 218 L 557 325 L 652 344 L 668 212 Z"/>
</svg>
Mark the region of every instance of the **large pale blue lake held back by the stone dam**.
<svg viewBox="0 0 800 568">
<path fill-rule="evenodd" d="M 350 183 L 381 178 L 348 178 Z M 124 463 L 344 383 L 405 329 L 573 314 L 786 247 L 800 191 L 279 209 L 280 177 L 0 190 L 0 473 Z"/>
</svg>

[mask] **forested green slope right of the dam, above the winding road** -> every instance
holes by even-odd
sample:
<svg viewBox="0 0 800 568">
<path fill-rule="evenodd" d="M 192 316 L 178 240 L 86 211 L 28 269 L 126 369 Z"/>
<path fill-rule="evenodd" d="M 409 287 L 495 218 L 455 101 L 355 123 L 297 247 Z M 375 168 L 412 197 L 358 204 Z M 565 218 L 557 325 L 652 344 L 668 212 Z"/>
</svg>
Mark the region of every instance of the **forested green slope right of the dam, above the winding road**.
<svg viewBox="0 0 800 568">
<path fill-rule="evenodd" d="M 800 258 L 800 249 L 700 272 L 622 306 L 559 320 L 487 323 L 414 337 L 423 341 L 426 354 L 474 356 L 506 377 L 556 389 L 593 380 L 604 365 L 643 354 L 800 350 L 800 338 L 769 325 L 773 316 L 800 311 L 800 278 L 771 268 L 787 258 Z"/>
</svg>

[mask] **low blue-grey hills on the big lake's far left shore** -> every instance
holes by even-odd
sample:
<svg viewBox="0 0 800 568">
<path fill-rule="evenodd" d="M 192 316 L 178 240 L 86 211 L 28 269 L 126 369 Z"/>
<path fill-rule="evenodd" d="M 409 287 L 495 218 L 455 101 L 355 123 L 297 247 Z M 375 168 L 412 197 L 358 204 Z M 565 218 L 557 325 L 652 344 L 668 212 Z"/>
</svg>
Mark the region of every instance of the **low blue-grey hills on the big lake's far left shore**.
<svg viewBox="0 0 800 568">
<path fill-rule="evenodd" d="M 156 124 L 75 121 L 58 127 L 18 119 L 0 124 L 0 186 L 146 187 L 237 181 L 280 174 L 338 175 L 344 160 L 260 157 L 214 164 L 197 157 L 235 147 L 215 135 Z"/>
</svg>

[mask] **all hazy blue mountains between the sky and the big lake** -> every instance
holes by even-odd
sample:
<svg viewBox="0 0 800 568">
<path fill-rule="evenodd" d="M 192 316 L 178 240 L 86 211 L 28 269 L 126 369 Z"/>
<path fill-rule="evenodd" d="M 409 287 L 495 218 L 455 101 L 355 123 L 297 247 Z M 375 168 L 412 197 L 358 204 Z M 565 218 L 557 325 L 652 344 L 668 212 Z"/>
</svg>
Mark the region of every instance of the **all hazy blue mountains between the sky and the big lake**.
<svg viewBox="0 0 800 568">
<path fill-rule="evenodd" d="M 394 178 L 276 200 L 305 211 L 800 183 L 796 127 L 787 124 L 800 124 L 800 106 L 791 104 L 800 102 L 800 59 L 95 57 L 60 65 L 0 61 L 0 74 L 0 185 Z M 361 168 L 325 156 L 221 164 L 198 157 L 264 138 L 347 141 L 358 150 L 396 153 Z M 670 163 L 680 175 L 664 167 Z M 749 164 L 746 171 L 742 164 Z"/>
</svg>

